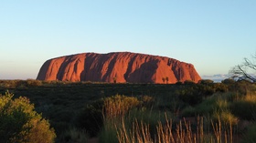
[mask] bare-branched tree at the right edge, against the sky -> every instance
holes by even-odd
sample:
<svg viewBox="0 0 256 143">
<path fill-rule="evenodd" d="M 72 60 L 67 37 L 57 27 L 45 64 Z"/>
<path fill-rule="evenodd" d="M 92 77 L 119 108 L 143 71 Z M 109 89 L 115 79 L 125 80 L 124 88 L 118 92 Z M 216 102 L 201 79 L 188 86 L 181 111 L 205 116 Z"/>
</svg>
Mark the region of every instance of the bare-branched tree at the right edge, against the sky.
<svg viewBox="0 0 256 143">
<path fill-rule="evenodd" d="M 233 78 L 237 79 L 249 79 L 251 82 L 256 82 L 256 77 L 251 76 L 249 70 L 256 71 L 256 53 L 255 56 L 252 56 L 252 60 L 244 58 L 244 62 L 241 65 L 234 66 L 229 74 Z"/>
</svg>

